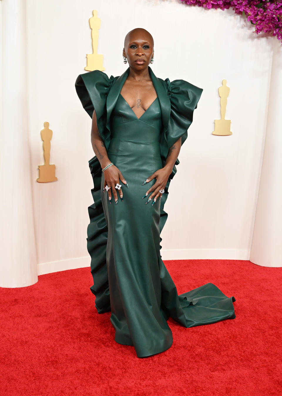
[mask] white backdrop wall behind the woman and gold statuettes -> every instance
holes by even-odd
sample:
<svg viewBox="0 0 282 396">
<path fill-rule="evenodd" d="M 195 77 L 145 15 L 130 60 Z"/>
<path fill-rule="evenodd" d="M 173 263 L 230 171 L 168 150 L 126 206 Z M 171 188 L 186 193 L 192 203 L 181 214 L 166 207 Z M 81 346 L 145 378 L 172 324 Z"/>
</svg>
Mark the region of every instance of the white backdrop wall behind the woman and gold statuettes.
<svg viewBox="0 0 282 396">
<path fill-rule="evenodd" d="M 3 2 L 2 8 L 3 17 Z M 232 10 L 161 0 L 26 0 L 26 95 L 38 274 L 90 265 L 88 160 L 94 152 L 91 119 L 74 83 L 85 72 L 86 53 L 92 52 L 88 19 L 94 9 L 102 21 L 98 53 L 104 56 L 108 76 L 119 76 L 128 67 L 122 58 L 124 36 L 143 27 L 154 37 L 151 67 L 156 76 L 183 78 L 203 88 L 169 187 L 162 258 L 250 259 L 273 46 L 278 40 L 257 36 Z M 19 68 L 22 61 L 19 56 Z M 214 119 L 220 118 L 222 79 L 230 87 L 226 118 L 233 132 L 224 137 L 212 135 Z M 43 164 L 40 130 L 45 121 L 53 130 L 50 163 L 56 165 L 58 177 L 53 183 L 36 182 L 38 165 Z M 10 158 L 14 160 L 12 148 Z"/>
</svg>

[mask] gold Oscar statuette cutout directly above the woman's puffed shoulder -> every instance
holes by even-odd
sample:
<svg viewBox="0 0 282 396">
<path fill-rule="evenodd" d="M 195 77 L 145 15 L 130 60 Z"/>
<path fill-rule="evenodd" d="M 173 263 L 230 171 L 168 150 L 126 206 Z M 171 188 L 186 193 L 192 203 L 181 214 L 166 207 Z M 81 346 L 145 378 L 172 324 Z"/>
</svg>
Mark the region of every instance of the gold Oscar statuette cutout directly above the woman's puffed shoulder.
<svg viewBox="0 0 282 396">
<path fill-rule="evenodd" d="M 105 68 L 103 67 L 103 55 L 98 54 L 98 30 L 101 26 L 101 19 L 97 16 L 97 10 L 93 10 L 93 16 L 89 19 L 89 25 L 91 29 L 91 39 L 92 39 L 92 53 L 86 54 L 86 67 L 84 70 L 93 71 L 100 70 L 103 71 Z"/>
</svg>

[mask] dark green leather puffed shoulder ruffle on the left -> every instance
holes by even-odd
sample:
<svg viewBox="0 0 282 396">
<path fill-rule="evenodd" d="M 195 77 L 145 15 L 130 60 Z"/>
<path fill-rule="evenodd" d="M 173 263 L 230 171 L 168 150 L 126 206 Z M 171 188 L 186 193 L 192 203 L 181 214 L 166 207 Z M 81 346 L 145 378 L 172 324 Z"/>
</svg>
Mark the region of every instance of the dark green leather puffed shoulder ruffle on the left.
<svg viewBox="0 0 282 396">
<path fill-rule="evenodd" d="M 109 90 L 115 80 L 114 76 L 110 78 L 101 70 L 93 70 L 79 74 L 75 81 L 76 93 L 81 101 L 83 109 L 92 118 L 95 109 L 97 116 L 97 126 L 100 135 L 105 137 L 106 123 L 106 100 Z"/>
</svg>

